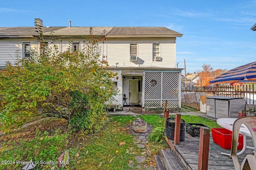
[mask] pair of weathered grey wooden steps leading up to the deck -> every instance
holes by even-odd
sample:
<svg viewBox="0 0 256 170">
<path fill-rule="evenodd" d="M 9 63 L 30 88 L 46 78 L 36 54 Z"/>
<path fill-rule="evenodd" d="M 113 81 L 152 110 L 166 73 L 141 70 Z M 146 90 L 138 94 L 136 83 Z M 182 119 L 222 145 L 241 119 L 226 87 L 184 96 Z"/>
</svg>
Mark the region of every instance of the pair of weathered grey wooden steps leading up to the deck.
<svg viewBox="0 0 256 170">
<path fill-rule="evenodd" d="M 158 170 L 186 170 L 186 167 L 173 150 L 160 151 L 160 156 L 156 156 L 156 168 Z"/>
</svg>

